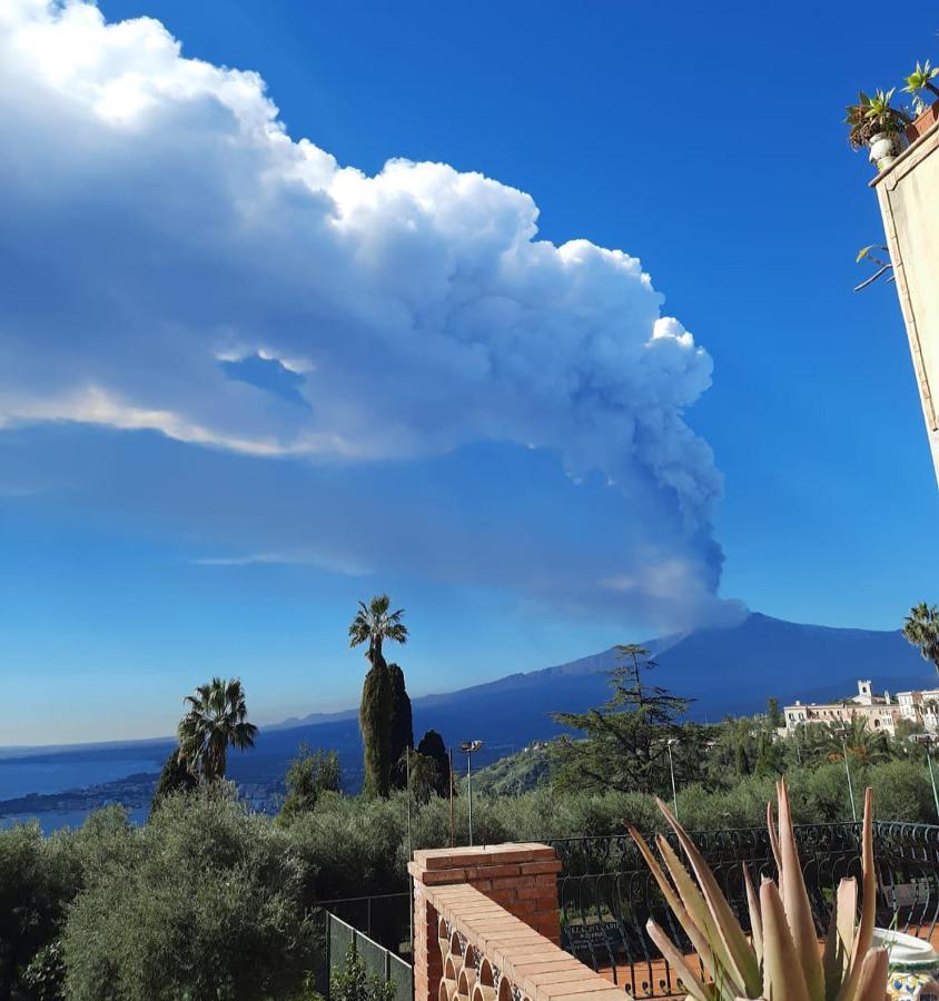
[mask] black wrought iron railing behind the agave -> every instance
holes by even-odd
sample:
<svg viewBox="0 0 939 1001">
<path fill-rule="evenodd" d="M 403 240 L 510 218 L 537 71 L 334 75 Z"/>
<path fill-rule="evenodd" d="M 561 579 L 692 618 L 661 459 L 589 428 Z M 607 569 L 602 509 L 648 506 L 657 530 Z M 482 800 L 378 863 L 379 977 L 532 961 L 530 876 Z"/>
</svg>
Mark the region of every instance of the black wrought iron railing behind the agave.
<svg viewBox="0 0 939 1001">
<path fill-rule="evenodd" d="M 828 928 L 836 888 L 860 879 L 860 826 L 808 824 L 795 829 L 805 885 L 819 933 Z M 764 829 L 692 832 L 721 889 L 749 928 L 743 868 L 754 881 L 775 876 Z M 670 838 L 674 845 L 673 838 Z M 691 943 L 627 835 L 548 839 L 564 871 L 559 882 L 562 944 L 604 971 L 635 998 L 681 993 L 674 974 L 645 932 L 652 918 L 691 953 Z M 676 845 L 675 845 L 676 846 Z M 939 918 L 939 827 L 874 825 L 878 923 L 930 938 Z"/>
</svg>

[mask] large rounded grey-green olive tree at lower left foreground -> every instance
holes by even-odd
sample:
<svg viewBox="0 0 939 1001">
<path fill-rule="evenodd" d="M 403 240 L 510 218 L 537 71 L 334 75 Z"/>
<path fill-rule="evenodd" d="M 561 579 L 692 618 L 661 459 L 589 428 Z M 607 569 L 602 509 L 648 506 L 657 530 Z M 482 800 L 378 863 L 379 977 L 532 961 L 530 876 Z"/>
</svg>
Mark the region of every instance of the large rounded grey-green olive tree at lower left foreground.
<svg viewBox="0 0 939 1001">
<path fill-rule="evenodd" d="M 85 883 L 63 939 L 70 1001 L 283 997 L 313 967 L 300 860 L 220 783 L 126 829 Z"/>
</svg>

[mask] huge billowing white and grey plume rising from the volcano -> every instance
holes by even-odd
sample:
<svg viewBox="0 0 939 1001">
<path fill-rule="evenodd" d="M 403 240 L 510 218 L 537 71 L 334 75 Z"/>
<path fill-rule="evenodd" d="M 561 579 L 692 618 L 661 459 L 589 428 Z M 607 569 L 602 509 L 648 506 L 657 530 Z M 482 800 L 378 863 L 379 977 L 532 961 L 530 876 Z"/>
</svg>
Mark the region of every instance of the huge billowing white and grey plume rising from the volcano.
<svg viewBox="0 0 939 1001">
<path fill-rule="evenodd" d="M 257 75 L 77 0 L 7 0 L 0 121 L 0 426 L 346 465 L 547 449 L 715 589 L 721 478 L 683 418 L 711 360 L 636 258 L 538 240 L 532 198 L 481 174 L 340 167 Z M 303 376 L 308 406 L 231 378 L 241 358 Z"/>
</svg>

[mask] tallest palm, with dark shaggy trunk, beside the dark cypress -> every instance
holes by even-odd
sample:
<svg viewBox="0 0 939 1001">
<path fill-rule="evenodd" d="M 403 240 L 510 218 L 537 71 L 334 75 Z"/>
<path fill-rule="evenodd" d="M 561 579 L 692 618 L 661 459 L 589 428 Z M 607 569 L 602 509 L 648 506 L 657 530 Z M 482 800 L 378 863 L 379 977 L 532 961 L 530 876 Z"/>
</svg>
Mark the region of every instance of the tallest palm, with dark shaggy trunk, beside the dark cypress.
<svg viewBox="0 0 939 1001">
<path fill-rule="evenodd" d="M 368 643 L 365 656 L 372 667 L 362 686 L 358 725 L 362 731 L 365 764 L 365 793 L 369 796 L 387 796 L 392 765 L 395 693 L 394 680 L 382 644 L 385 640 L 407 643 L 407 626 L 401 621 L 404 609 L 389 612 L 392 599 L 383 594 L 366 605 L 358 603 L 358 612 L 349 626 L 349 646 Z M 402 688 L 404 675 L 402 675 Z"/>
</svg>

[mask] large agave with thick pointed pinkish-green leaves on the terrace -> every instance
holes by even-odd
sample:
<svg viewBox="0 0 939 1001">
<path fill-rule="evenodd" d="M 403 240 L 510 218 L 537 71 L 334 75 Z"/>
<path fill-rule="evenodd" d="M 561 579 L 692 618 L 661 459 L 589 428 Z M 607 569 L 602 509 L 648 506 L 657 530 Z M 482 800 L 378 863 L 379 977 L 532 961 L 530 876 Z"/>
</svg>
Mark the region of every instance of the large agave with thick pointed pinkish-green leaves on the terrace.
<svg viewBox="0 0 939 1001">
<path fill-rule="evenodd" d="M 751 934 L 748 936 L 721 893 L 704 856 L 660 800 L 691 872 L 661 834 L 655 844 L 664 869 L 640 833 L 630 834 L 642 852 L 665 901 L 701 959 L 690 963 L 662 929 L 651 921 L 649 935 L 681 979 L 693 1001 L 733 1001 L 765 998 L 772 1001 L 883 1001 L 887 993 L 886 949 L 873 949 L 874 871 L 871 831 L 871 791 L 864 795 L 861 839 L 863 896 L 858 921 L 858 885 L 841 881 L 824 949 L 819 948 L 809 894 L 795 849 L 792 813 L 785 782 L 780 780 L 779 831 L 772 804 L 767 809 L 770 843 L 779 881 L 763 878 L 759 894 L 744 866 Z M 668 875 L 666 875 L 668 871 Z M 692 876 L 693 873 L 693 876 Z"/>
</svg>

